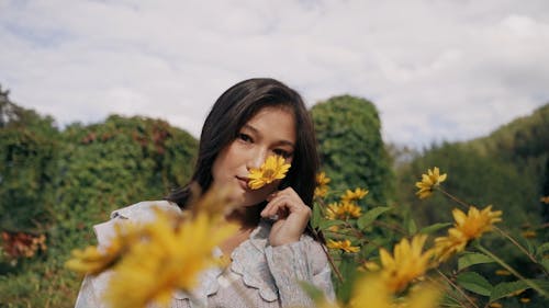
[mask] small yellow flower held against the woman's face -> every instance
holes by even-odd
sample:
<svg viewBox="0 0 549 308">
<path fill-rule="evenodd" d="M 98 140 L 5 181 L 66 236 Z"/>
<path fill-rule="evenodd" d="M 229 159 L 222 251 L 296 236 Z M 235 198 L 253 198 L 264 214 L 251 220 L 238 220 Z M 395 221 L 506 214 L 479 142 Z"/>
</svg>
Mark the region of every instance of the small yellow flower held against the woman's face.
<svg viewBox="0 0 549 308">
<path fill-rule="evenodd" d="M 284 179 L 289 169 L 290 164 L 285 163 L 284 158 L 270 156 L 259 169 L 250 170 L 248 186 L 253 190 L 259 190 L 276 180 Z"/>
</svg>

